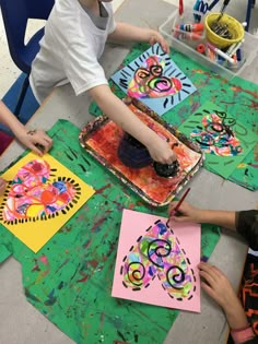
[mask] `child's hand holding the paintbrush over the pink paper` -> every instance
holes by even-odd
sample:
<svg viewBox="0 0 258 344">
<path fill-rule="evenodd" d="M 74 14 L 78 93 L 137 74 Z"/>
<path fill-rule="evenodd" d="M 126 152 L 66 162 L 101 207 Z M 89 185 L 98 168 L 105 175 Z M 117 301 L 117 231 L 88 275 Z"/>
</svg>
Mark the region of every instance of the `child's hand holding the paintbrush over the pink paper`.
<svg viewBox="0 0 258 344">
<path fill-rule="evenodd" d="M 178 202 L 174 201 L 169 204 L 168 207 L 168 216 L 169 221 L 175 221 L 175 222 L 194 222 L 198 223 L 200 215 L 201 215 L 201 210 L 197 209 L 192 205 L 190 205 L 187 201 L 184 201 L 180 205 L 179 209 L 179 214 L 174 214 L 174 209 L 177 206 Z"/>
</svg>

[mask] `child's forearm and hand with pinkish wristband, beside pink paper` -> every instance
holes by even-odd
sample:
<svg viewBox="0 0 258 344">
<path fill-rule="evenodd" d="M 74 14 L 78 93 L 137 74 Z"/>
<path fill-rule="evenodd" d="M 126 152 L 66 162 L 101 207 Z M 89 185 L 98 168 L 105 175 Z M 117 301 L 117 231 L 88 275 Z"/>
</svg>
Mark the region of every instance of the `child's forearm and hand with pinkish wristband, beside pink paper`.
<svg viewBox="0 0 258 344">
<path fill-rule="evenodd" d="M 201 287 L 222 307 L 235 343 L 244 343 L 253 339 L 255 334 L 228 278 L 216 266 L 209 263 L 202 262 L 198 268 L 202 278 Z"/>
</svg>

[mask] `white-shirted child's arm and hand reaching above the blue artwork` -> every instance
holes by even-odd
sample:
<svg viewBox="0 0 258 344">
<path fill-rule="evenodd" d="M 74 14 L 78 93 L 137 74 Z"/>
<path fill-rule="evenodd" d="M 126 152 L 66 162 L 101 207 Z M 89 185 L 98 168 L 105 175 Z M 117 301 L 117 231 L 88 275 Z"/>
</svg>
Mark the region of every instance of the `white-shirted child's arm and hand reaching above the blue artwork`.
<svg viewBox="0 0 258 344">
<path fill-rule="evenodd" d="M 108 36 L 108 39 L 121 43 L 145 41 L 151 45 L 159 43 L 165 52 L 169 51 L 168 44 L 159 32 L 127 23 L 117 23 L 115 31 Z"/>
</svg>

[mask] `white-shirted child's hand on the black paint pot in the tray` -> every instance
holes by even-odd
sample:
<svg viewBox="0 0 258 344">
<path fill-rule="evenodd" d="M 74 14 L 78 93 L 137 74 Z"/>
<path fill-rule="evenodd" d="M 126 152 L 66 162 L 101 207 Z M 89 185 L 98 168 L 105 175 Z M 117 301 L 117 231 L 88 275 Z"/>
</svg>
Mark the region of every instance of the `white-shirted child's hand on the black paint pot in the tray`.
<svg viewBox="0 0 258 344">
<path fill-rule="evenodd" d="M 159 137 L 157 139 L 159 140 L 155 140 L 155 142 L 146 146 L 151 157 L 154 162 L 161 164 L 172 164 L 176 161 L 176 154 L 166 141 L 160 139 Z"/>
</svg>

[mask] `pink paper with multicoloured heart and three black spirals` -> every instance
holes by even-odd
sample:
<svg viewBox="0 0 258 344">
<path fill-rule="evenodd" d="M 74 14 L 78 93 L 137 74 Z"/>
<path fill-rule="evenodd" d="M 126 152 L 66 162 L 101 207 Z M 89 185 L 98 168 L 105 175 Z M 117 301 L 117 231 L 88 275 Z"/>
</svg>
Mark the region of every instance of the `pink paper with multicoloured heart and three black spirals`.
<svg viewBox="0 0 258 344">
<path fill-rule="evenodd" d="M 124 210 L 112 296 L 200 311 L 200 225 Z"/>
</svg>

